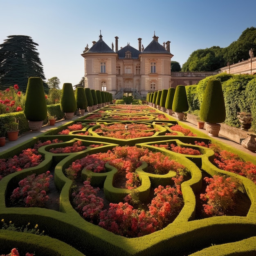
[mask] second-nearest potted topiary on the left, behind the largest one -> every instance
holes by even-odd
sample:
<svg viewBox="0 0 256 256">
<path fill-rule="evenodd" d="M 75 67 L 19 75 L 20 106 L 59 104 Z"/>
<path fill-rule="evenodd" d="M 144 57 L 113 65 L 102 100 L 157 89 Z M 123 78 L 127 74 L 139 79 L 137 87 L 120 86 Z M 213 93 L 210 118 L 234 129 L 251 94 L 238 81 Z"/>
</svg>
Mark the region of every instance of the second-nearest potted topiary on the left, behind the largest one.
<svg viewBox="0 0 256 256">
<path fill-rule="evenodd" d="M 65 113 L 65 119 L 72 119 L 77 109 L 76 98 L 71 83 L 63 83 L 61 92 L 61 110 Z"/>
</svg>

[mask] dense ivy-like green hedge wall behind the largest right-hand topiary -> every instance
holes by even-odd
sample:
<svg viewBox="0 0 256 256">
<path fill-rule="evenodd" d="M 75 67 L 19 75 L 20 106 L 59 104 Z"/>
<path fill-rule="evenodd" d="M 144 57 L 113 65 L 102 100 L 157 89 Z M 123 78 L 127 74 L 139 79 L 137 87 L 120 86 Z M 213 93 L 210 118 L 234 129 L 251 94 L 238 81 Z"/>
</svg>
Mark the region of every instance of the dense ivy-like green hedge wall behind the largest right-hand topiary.
<svg viewBox="0 0 256 256">
<path fill-rule="evenodd" d="M 199 115 L 204 90 L 209 80 L 220 80 L 226 108 L 225 124 L 240 127 L 237 112 L 251 112 L 252 132 L 256 132 L 256 78 L 253 75 L 232 75 L 221 73 L 186 86 L 189 113 Z"/>
</svg>

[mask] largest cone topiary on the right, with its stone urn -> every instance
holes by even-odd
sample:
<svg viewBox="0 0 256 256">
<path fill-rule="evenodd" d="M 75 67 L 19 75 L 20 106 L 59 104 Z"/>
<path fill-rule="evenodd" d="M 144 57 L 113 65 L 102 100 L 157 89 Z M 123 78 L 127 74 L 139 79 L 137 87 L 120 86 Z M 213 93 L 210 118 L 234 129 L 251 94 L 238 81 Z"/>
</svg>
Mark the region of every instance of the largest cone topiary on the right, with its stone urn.
<svg viewBox="0 0 256 256">
<path fill-rule="evenodd" d="M 209 135 L 218 137 L 219 123 L 226 119 L 224 96 L 219 80 L 210 80 L 206 85 L 200 107 L 200 119 L 206 122 L 205 129 Z"/>
</svg>

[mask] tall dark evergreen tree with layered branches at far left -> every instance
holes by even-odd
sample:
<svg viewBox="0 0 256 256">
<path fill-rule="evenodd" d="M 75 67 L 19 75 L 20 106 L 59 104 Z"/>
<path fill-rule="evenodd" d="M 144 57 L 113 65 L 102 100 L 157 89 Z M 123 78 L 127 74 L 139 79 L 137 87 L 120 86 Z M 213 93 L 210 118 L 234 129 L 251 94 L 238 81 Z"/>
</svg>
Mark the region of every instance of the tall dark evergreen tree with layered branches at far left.
<svg viewBox="0 0 256 256">
<path fill-rule="evenodd" d="M 7 36 L 0 45 L 0 90 L 18 84 L 22 92 L 26 92 L 28 78 L 45 75 L 43 64 L 36 52 L 36 45 L 30 36 Z M 49 92 L 47 83 L 43 82 L 44 90 Z"/>
</svg>

